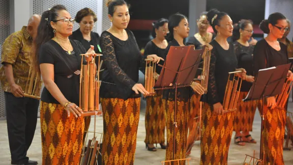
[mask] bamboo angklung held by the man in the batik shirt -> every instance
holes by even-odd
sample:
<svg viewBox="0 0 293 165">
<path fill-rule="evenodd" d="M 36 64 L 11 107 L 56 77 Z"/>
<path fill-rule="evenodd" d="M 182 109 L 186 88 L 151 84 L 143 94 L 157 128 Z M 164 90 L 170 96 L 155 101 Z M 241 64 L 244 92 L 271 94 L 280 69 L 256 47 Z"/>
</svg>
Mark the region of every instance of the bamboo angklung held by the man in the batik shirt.
<svg viewBox="0 0 293 165">
<path fill-rule="evenodd" d="M 30 67 L 30 71 L 28 72 L 28 78 L 24 89 L 24 97 L 40 100 L 40 83 L 42 83 L 41 76 L 35 71 L 35 68 L 32 65 Z"/>
</svg>

